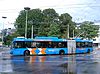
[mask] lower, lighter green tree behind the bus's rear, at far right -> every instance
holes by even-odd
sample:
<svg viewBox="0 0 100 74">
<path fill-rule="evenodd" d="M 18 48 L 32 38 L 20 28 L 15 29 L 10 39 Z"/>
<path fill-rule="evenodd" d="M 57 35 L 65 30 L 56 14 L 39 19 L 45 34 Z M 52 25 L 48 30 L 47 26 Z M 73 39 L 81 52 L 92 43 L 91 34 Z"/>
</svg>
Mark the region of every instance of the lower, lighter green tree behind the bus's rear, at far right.
<svg viewBox="0 0 100 74">
<path fill-rule="evenodd" d="M 92 39 L 98 35 L 98 29 L 93 22 L 85 21 L 80 25 L 80 37 Z"/>
</svg>

